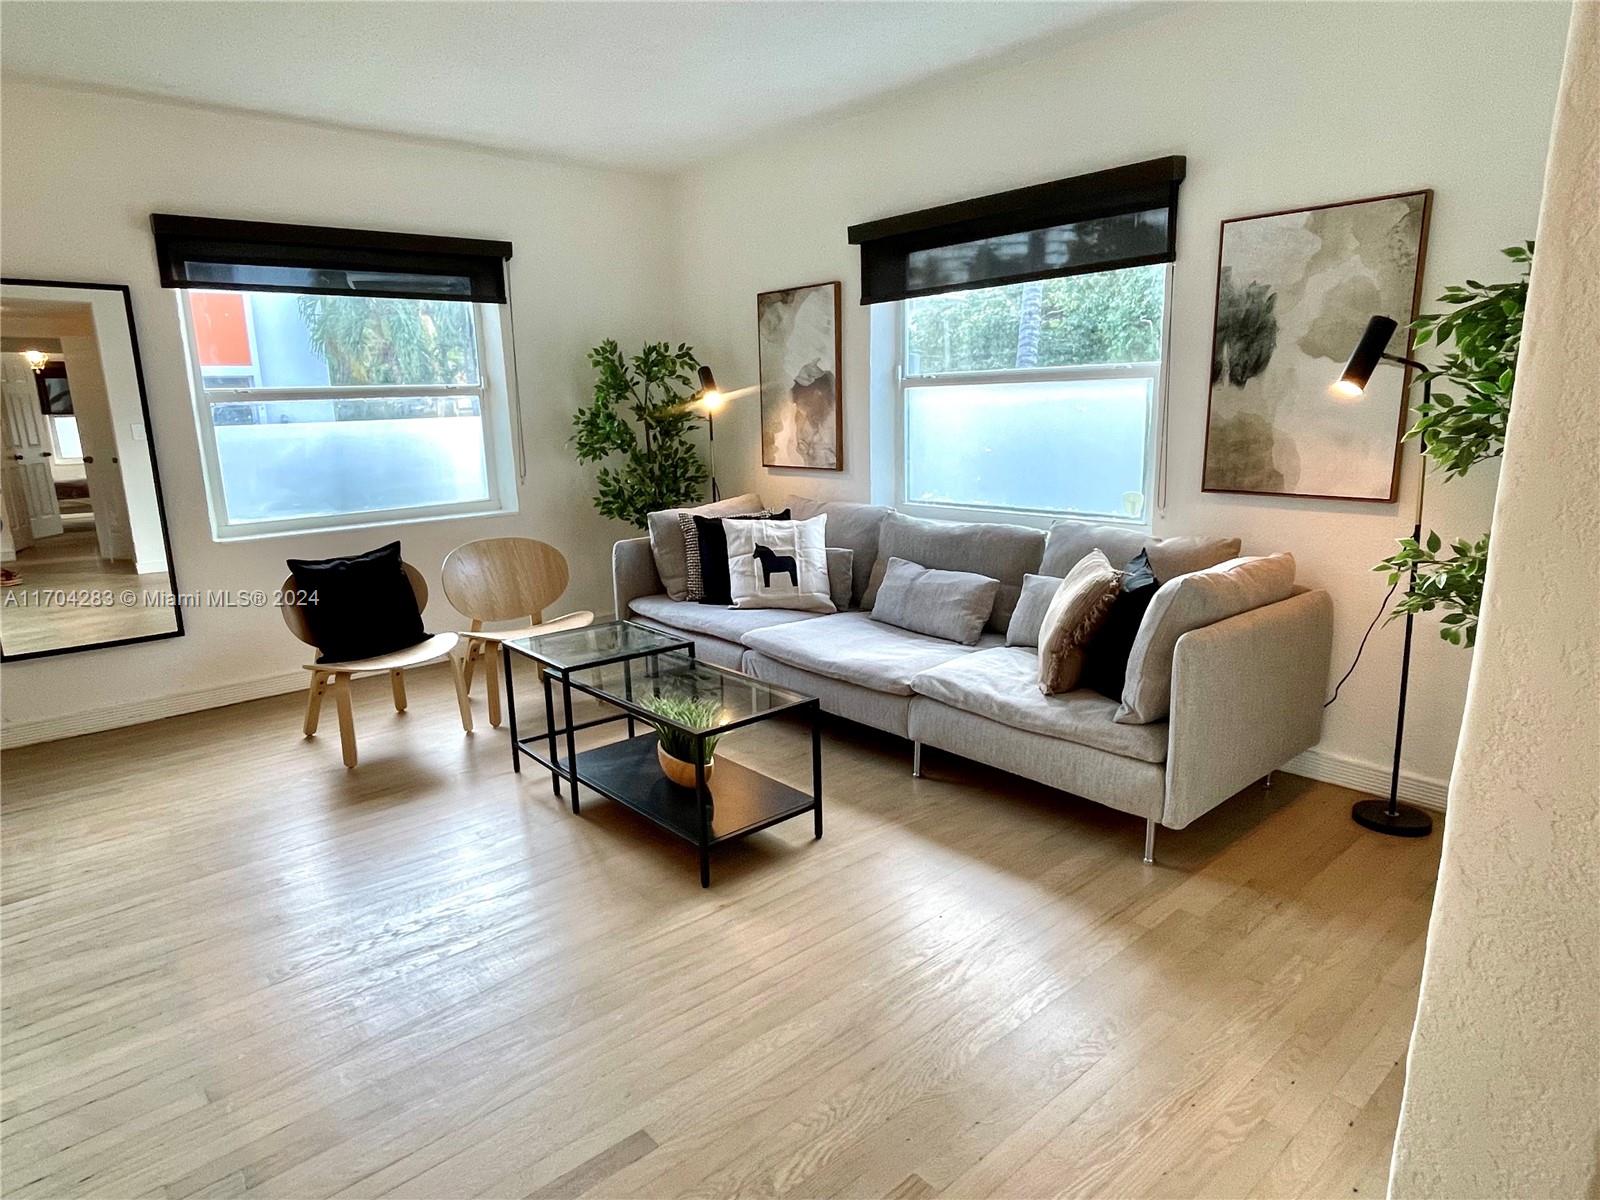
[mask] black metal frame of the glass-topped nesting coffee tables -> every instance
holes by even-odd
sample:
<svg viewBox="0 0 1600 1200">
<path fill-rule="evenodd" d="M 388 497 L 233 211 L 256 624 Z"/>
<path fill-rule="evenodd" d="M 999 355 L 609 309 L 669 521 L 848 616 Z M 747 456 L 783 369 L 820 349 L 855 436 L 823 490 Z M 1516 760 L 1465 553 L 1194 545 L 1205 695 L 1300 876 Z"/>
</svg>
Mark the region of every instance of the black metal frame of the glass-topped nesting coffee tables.
<svg viewBox="0 0 1600 1200">
<path fill-rule="evenodd" d="M 632 664 L 634 662 L 643 662 L 646 666 L 646 677 L 648 677 L 648 675 L 654 674 L 656 659 L 661 654 L 674 654 L 674 653 L 678 653 L 678 651 L 688 653 L 690 662 L 696 662 L 698 661 L 694 658 L 694 643 L 690 642 L 690 640 L 683 640 L 683 642 L 675 643 L 675 645 L 658 646 L 654 650 L 646 650 L 646 651 L 642 651 L 642 653 L 629 653 L 629 654 L 616 654 L 613 658 L 590 659 L 590 661 L 586 661 L 586 662 L 581 662 L 581 664 L 576 664 L 576 666 L 570 666 L 570 667 L 560 667 L 560 666 L 546 662 L 544 659 L 538 658 L 536 654 L 530 654 L 528 651 L 523 651 L 523 650 L 512 651 L 512 648 L 510 648 L 509 643 L 501 643 L 501 654 L 504 656 L 504 662 L 502 662 L 504 672 L 502 674 L 506 677 L 506 722 L 510 726 L 510 766 L 512 766 L 512 771 L 515 771 L 517 774 L 522 774 L 522 755 L 528 755 L 530 758 L 533 758 L 533 762 L 536 762 L 541 766 L 544 766 L 546 770 L 549 770 L 549 773 L 550 773 L 550 787 L 555 792 L 555 795 L 562 794 L 562 779 L 565 778 L 568 787 L 571 789 L 573 813 L 574 814 L 579 813 L 581 811 L 581 803 L 579 803 L 579 797 L 578 797 L 579 776 L 578 776 L 578 739 L 576 739 L 576 734 L 581 730 L 592 730 L 592 728 L 597 728 L 600 725 L 613 725 L 616 722 L 627 722 L 627 736 L 634 738 L 635 736 L 634 734 L 635 722 L 643 720 L 643 722 L 648 723 L 648 722 L 654 720 L 654 717 L 646 709 L 643 709 L 643 706 L 634 702 L 632 694 L 629 694 L 624 699 L 619 699 L 616 696 L 610 696 L 606 693 L 602 693 L 597 688 L 590 688 L 590 686 L 586 686 L 582 683 L 574 683 L 573 678 L 571 678 L 573 672 L 574 670 L 589 670 L 590 667 L 608 667 L 608 666 L 614 666 L 614 664 L 621 662 L 622 664 L 622 672 L 624 672 L 624 688 L 629 693 L 632 693 Z M 515 685 L 512 683 L 512 659 L 514 659 L 514 654 L 522 654 L 523 658 L 530 658 L 539 667 L 539 677 L 541 677 L 541 680 L 544 683 L 544 734 L 542 736 L 541 734 L 534 734 L 533 738 L 518 738 L 517 736 L 517 691 L 515 691 Z M 555 696 L 554 696 L 554 690 L 550 686 L 550 675 L 552 674 L 557 675 L 562 680 L 562 718 L 563 718 L 563 725 L 560 728 L 557 728 L 557 725 L 555 725 L 555 702 L 554 702 Z M 592 699 L 600 701 L 602 704 L 610 704 L 611 707 L 619 709 L 619 712 L 613 712 L 613 714 L 608 714 L 608 715 L 603 715 L 603 717 L 595 717 L 595 718 L 586 720 L 586 722 L 574 722 L 573 720 L 573 691 L 574 690 L 579 694 L 590 696 Z M 734 840 L 738 840 L 741 837 L 749 837 L 750 834 L 758 834 L 763 829 L 770 829 L 771 826 L 781 824 L 784 821 L 790 821 L 790 819 L 794 819 L 794 818 L 797 818 L 797 816 L 800 816 L 802 813 L 806 813 L 806 811 L 810 811 L 813 814 L 813 819 L 814 819 L 813 835 L 816 838 L 822 837 L 822 702 L 818 701 L 818 699 L 805 699 L 805 701 L 802 701 L 798 704 L 790 704 L 790 706 L 782 707 L 782 709 L 773 709 L 771 712 L 758 712 L 755 715 L 746 717 L 744 720 L 738 720 L 738 722 L 733 722 L 730 725 L 722 725 L 722 726 L 718 726 L 715 730 L 707 730 L 707 731 L 698 731 L 698 730 L 688 730 L 685 726 L 678 726 L 678 728 L 683 728 L 685 733 L 691 734 L 696 739 L 696 742 L 704 742 L 706 738 L 722 738 L 723 734 L 733 733 L 734 730 L 742 730 L 747 725 L 755 725 L 758 722 L 771 720 L 773 717 L 781 717 L 781 715 L 792 714 L 792 712 L 810 712 L 810 718 L 811 718 L 810 720 L 810 723 L 811 723 L 811 806 L 810 808 L 798 808 L 798 810 L 795 810 L 792 813 L 784 813 L 781 816 L 774 816 L 770 821 L 762 821 L 762 822 L 749 826 L 746 829 L 739 829 L 738 832 L 725 835 L 722 838 L 712 838 L 712 835 L 710 835 L 710 803 L 712 803 L 712 795 L 710 795 L 710 792 L 706 787 L 706 755 L 704 755 L 704 752 L 698 752 L 694 755 L 694 758 L 696 758 L 696 762 L 694 762 L 694 795 L 696 795 L 696 802 L 698 802 L 696 808 L 699 811 L 699 840 L 694 845 L 699 850 L 699 867 L 701 867 L 701 886 L 702 888 L 709 888 L 710 886 L 710 848 L 714 845 L 720 845 L 722 842 L 734 842 Z M 558 754 L 557 752 L 557 738 L 565 738 L 565 741 L 566 741 L 566 766 L 565 768 L 562 766 L 560 758 L 557 757 L 557 754 Z M 533 742 L 541 742 L 541 741 L 546 742 L 546 746 L 549 747 L 549 757 L 546 757 L 546 755 L 539 754 L 536 749 L 533 749 L 531 744 Z M 643 810 L 637 808 L 629 800 L 629 797 L 626 797 L 626 795 L 618 795 L 616 792 L 613 792 L 610 789 L 597 787 L 594 784 L 594 781 L 587 781 L 584 786 L 587 786 L 594 792 L 598 792 L 600 795 L 605 795 L 605 797 L 608 797 L 608 798 L 611 798 L 611 800 L 614 800 L 614 802 L 618 802 L 621 805 L 626 805 L 627 808 L 634 808 L 634 811 L 638 811 L 642 816 L 645 816 L 646 819 L 650 819 L 654 824 L 661 826 L 662 829 L 667 829 L 669 832 L 678 832 L 678 830 L 674 830 L 669 826 L 656 821 L 654 816 L 650 814 L 648 811 L 643 811 Z"/>
</svg>

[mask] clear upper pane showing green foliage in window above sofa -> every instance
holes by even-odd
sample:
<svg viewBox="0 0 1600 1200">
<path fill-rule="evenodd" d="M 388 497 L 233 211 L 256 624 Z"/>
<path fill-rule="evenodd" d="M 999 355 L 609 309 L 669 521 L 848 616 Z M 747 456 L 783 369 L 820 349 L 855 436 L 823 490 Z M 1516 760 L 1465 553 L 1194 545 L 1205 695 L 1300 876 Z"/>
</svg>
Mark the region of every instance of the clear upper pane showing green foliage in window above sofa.
<svg viewBox="0 0 1600 1200">
<path fill-rule="evenodd" d="M 1162 267 L 906 302 L 907 373 L 1147 363 L 1162 357 Z"/>
</svg>

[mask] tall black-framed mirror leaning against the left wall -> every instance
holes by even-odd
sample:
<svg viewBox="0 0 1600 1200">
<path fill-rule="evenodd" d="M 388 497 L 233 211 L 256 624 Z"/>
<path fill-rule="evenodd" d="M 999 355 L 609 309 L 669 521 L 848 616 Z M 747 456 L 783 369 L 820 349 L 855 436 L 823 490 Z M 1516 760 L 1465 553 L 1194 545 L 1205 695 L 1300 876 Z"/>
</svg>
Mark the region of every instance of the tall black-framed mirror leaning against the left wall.
<svg viewBox="0 0 1600 1200">
<path fill-rule="evenodd" d="M 0 280 L 0 658 L 184 632 L 128 288 Z"/>
</svg>

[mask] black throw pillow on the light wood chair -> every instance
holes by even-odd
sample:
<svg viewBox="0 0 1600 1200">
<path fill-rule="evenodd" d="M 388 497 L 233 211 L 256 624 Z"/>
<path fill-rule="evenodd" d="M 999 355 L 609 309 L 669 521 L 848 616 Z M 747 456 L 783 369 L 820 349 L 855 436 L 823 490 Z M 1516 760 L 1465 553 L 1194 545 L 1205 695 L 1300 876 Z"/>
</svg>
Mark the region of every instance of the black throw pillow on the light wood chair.
<svg viewBox="0 0 1600 1200">
<path fill-rule="evenodd" d="M 427 638 L 400 542 L 347 558 L 290 558 L 318 662 L 405 650 Z M 312 598 L 315 597 L 315 598 Z"/>
</svg>

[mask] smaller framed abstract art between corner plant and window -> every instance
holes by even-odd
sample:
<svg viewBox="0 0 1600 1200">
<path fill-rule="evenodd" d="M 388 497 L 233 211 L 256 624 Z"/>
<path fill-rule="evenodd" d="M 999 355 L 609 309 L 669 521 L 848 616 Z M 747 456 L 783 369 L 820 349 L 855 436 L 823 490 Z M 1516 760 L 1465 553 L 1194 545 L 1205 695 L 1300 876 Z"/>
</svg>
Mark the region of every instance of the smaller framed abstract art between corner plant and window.
<svg viewBox="0 0 1600 1200">
<path fill-rule="evenodd" d="M 762 373 L 762 466 L 843 470 L 840 285 L 755 298 Z"/>
</svg>

